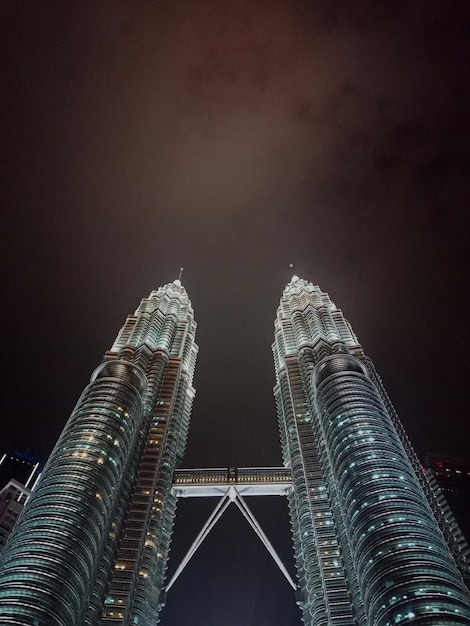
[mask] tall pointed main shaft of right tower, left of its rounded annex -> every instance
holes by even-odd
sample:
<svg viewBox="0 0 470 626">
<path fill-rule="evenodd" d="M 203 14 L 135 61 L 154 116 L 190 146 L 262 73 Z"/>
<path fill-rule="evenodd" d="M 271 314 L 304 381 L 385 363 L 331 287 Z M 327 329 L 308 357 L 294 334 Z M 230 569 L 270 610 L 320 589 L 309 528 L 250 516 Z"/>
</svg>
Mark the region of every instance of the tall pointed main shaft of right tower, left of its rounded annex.
<svg viewBox="0 0 470 626">
<path fill-rule="evenodd" d="M 294 549 L 308 626 L 351 626 L 361 623 L 360 602 L 352 606 L 345 574 L 347 554 L 341 551 L 341 519 L 334 514 L 335 494 L 325 474 L 321 442 L 311 398 L 311 375 L 331 346 L 321 320 L 331 307 L 318 287 L 297 278 L 286 288 L 275 322 L 273 344 L 277 384 L 274 389 L 284 462 L 291 467 L 290 496 Z M 318 312 L 320 309 L 320 312 Z M 354 338 L 349 338 L 353 344 Z"/>
</svg>

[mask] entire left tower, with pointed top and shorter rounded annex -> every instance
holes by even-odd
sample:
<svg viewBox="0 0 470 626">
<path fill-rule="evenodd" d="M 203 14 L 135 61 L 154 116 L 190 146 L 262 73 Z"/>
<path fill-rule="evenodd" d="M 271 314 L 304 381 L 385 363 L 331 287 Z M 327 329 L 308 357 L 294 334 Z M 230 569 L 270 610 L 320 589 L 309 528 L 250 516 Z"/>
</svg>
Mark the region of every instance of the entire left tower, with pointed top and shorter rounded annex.
<svg viewBox="0 0 470 626">
<path fill-rule="evenodd" d="M 0 623 L 158 622 L 197 355 L 179 280 L 127 318 L 83 391 L 0 563 Z"/>
</svg>

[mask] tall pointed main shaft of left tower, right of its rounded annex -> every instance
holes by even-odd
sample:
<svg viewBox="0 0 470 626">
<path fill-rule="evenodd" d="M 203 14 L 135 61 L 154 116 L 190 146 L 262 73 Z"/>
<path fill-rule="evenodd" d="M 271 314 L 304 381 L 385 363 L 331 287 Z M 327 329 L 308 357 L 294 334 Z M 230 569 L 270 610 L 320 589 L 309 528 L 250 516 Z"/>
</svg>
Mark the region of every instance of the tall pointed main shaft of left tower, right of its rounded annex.
<svg viewBox="0 0 470 626">
<path fill-rule="evenodd" d="M 187 294 L 174 281 L 142 302 L 107 355 L 132 358 L 146 372 L 148 389 L 137 478 L 99 620 L 106 626 L 158 621 L 176 508 L 172 476 L 194 398 L 195 329 Z"/>
</svg>

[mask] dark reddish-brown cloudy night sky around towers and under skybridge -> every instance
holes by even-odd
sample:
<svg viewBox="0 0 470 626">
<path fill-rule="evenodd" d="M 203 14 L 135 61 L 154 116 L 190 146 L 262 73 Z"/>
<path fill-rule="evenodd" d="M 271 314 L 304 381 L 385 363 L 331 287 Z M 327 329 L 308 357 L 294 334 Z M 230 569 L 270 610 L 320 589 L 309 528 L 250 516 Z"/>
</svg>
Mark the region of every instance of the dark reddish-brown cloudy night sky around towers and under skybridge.
<svg viewBox="0 0 470 626">
<path fill-rule="evenodd" d="M 2 451 L 50 452 L 126 315 L 184 266 L 184 466 L 280 464 L 270 346 L 294 263 L 418 454 L 469 456 L 468 0 L 3 0 L 0 24 Z M 292 569 L 285 502 L 249 505 Z M 213 506 L 180 505 L 170 571 Z M 161 623 L 300 620 L 234 508 Z"/>
</svg>

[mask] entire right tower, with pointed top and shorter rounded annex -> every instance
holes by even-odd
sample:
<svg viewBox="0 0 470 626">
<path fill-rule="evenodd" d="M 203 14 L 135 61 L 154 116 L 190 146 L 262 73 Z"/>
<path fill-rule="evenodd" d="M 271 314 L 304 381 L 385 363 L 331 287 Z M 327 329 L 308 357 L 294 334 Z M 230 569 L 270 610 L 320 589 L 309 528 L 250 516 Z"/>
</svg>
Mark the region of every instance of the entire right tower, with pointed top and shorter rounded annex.
<svg viewBox="0 0 470 626">
<path fill-rule="evenodd" d="M 287 285 L 273 353 L 304 623 L 470 624 L 468 563 L 451 531 L 444 540 L 372 362 L 318 286 Z"/>
</svg>

